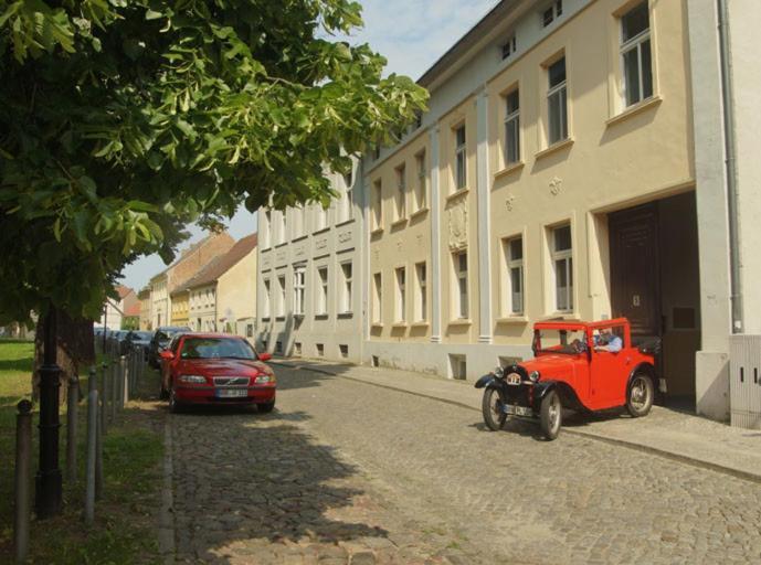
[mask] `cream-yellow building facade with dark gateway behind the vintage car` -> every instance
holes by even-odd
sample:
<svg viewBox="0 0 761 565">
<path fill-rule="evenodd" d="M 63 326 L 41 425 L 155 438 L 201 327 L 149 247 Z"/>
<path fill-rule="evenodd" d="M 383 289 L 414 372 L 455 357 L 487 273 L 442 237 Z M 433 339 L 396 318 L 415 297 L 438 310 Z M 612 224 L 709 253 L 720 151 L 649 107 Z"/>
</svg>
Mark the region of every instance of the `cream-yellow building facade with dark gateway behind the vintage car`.
<svg viewBox="0 0 761 565">
<path fill-rule="evenodd" d="M 363 159 L 362 361 L 472 380 L 530 356 L 535 321 L 625 316 L 636 339 L 663 340 L 669 402 L 725 419 L 725 139 L 750 153 L 760 129 L 725 99 L 720 60 L 754 92 L 761 8 L 727 11 L 722 53 L 722 3 L 503 1 L 450 49 L 419 81 L 420 127 Z M 728 134 L 736 105 L 753 116 Z M 759 211 L 742 150 L 737 207 Z M 734 230 L 750 282 L 759 236 Z M 741 331 L 759 332 L 761 295 L 743 298 Z"/>
</svg>

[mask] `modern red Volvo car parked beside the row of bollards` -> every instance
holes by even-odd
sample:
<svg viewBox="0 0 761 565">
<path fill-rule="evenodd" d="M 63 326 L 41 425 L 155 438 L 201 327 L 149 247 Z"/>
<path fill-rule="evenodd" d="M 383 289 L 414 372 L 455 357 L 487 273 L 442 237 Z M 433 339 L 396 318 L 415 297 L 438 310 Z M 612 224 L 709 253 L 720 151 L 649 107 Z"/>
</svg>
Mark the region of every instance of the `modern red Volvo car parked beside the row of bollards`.
<svg viewBox="0 0 761 565">
<path fill-rule="evenodd" d="M 182 333 L 161 352 L 161 397 L 177 412 L 191 404 L 255 404 L 275 407 L 275 374 L 243 338 Z"/>
</svg>

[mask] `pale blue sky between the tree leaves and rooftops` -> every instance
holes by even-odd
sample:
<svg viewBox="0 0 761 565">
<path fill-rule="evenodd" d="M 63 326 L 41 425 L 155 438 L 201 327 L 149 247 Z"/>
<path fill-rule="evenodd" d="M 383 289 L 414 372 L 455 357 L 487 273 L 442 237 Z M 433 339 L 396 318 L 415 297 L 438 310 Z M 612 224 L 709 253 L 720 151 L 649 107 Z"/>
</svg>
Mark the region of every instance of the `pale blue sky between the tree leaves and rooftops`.
<svg viewBox="0 0 761 565">
<path fill-rule="evenodd" d="M 388 73 L 414 79 L 442 56 L 465 32 L 483 18 L 497 0 L 364 0 L 364 28 L 351 34 L 352 43 L 369 43 L 388 58 Z M 241 209 L 228 230 L 236 239 L 256 231 L 256 216 Z M 203 232 L 190 227 L 197 242 Z M 123 282 L 135 290 L 166 267 L 158 255 L 144 257 L 124 271 Z"/>
</svg>

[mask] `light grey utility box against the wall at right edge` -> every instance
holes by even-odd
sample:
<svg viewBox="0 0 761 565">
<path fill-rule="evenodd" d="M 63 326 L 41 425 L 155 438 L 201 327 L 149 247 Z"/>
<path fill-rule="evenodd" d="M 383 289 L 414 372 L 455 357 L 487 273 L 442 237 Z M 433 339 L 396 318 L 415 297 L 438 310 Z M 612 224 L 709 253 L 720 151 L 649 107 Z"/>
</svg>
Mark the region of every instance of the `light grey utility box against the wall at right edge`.
<svg viewBox="0 0 761 565">
<path fill-rule="evenodd" d="M 761 335 L 729 338 L 729 402 L 732 426 L 761 429 Z"/>
</svg>

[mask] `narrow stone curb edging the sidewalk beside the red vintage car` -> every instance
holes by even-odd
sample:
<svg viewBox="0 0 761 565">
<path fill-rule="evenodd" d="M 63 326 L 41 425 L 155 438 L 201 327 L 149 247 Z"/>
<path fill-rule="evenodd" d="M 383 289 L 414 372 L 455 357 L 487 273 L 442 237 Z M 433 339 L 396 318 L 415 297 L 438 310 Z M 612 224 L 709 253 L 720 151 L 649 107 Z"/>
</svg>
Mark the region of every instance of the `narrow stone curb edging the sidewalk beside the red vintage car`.
<svg viewBox="0 0 761 565">
<path fill-rule="evenodd" d="M 476 408 L 469 404 L 462 403 L 462 402 L 450 401 L 447 398 L 442 398 L 440 396 L 432 396 L 430 394 L 415 393 L 412 391 L 408 391 L 405 388 L 399 388 L 399 387 L 390 386 L 390 385 L 385 385 L 385 384 L 371 383 L 371 382 L 366 381 L 363 379 L 357 379 L 355 376 L 349 376 L 346 374 L 336 373 L 336 372 L 332 372 L 332 371 L 329 371 L 326 369 L 319 369 L 319 367 L 299 365 L 299 364 L 290 364 L 288 362 L 282 362 L 282 361 L 269 361 L 269 363 L 272 363 L 273 365 L 278 365 L 278 366 L 286 367 L 286 369 L 294 369 L 294 370 L 300 370 L 300 371 L 311 371 L 313 373 L 320 373 L 320 374 L 325 374 L 325 375 L 337 376 L 339 379 L 346 379 L 348 381 L 353 381 L 356 383 L 367 384 L 369 386 L 377 386 L 379 388 L 385 388 L 388 391 L 395 391 L 399 393 L 411 394 L 412 396 L 418 396 L 421 398 L 429 398 L 431 401 L 442 402 L 444 404 L 451 404 L 453 406 L 458 406 L 461 408 L 467 408 L 469 411 L 480 412 L 478 408 Z M 697 467 L 699 469 L 707 469 L 709 471 L 721 472 L 723 475 L 730 475 L 730 476 L 736 477 L 738 479 L 742 479 L 742 480 L 747 480 L 750 482 L 761 484 L 761 475 L 755 475 L 755 473 L 743 471 L 740 469 L 734 469 L 732 467 L 726 467 L 723 465 L 714 463 L 710 461 L 705 461 L 702 459 L 697 459 L 695 457 L 690 457 L 687 455 L 675 454 L 673 451 L 666 451 L 665 449 L 659 449 L 657 447 L 645 446 L 642 444 L 636 444 L 634 441 L 626 441 L 625 439 L 617 439 L 617 438 L 600 436 L 598 434 L 592 434 L 589 431 L 582 431 L 579 429 L 563 428 L 563 434 L 570 434 L 570 435 L 577 436 L 577 437 L 595 439 L 595 440 L 601 441 L 603 444 L 609 444 L 609 445 L 613 445 L 613 446 L 617 446 L 617 447 L 625 447 L 625 448 L 632 449 L 634 451 L 640 451 L 640 452 L 644 452 L 644 454 L 654 455 L 657 457 L 663 457 L 664 459 L 670 459 L 673 461 L 677 461 L 680 463 L 690 465 L 690 466 Z"/>
</svg>

